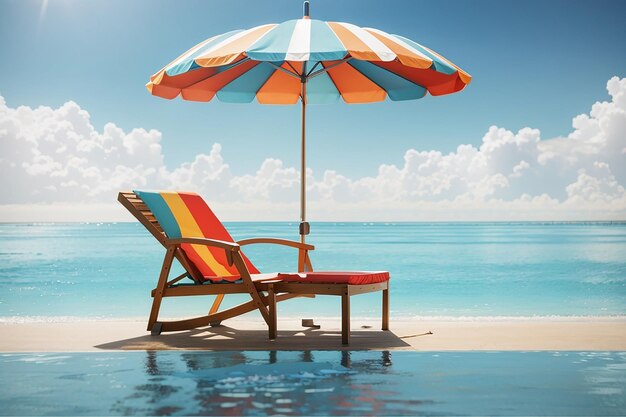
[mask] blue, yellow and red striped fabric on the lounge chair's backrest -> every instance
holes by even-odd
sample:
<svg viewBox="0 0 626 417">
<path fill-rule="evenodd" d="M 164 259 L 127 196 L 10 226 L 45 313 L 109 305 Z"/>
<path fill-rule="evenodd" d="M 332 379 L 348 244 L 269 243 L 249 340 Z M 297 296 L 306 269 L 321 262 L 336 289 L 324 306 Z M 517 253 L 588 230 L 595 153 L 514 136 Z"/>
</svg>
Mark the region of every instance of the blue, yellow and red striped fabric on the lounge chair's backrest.
<svg viewBox="0 0 626 417">
<path fill-rule="evenodd" d="M 148 206 L 170 239 L 200 237 L 234 242 L 222 222 L 206 202 L 195 193 L 172 191 L 133 191 Z M 241 277 L 234 265 L 228 265 L 224 249 L 204 245 L 181 245 L 189 260 L 198 268 L 205 281 L 235 282 Z M 243 254 L 242 254 L 243 255 Z M 258 269 L 243 255 L 248 271 Z"/>
</svg>

